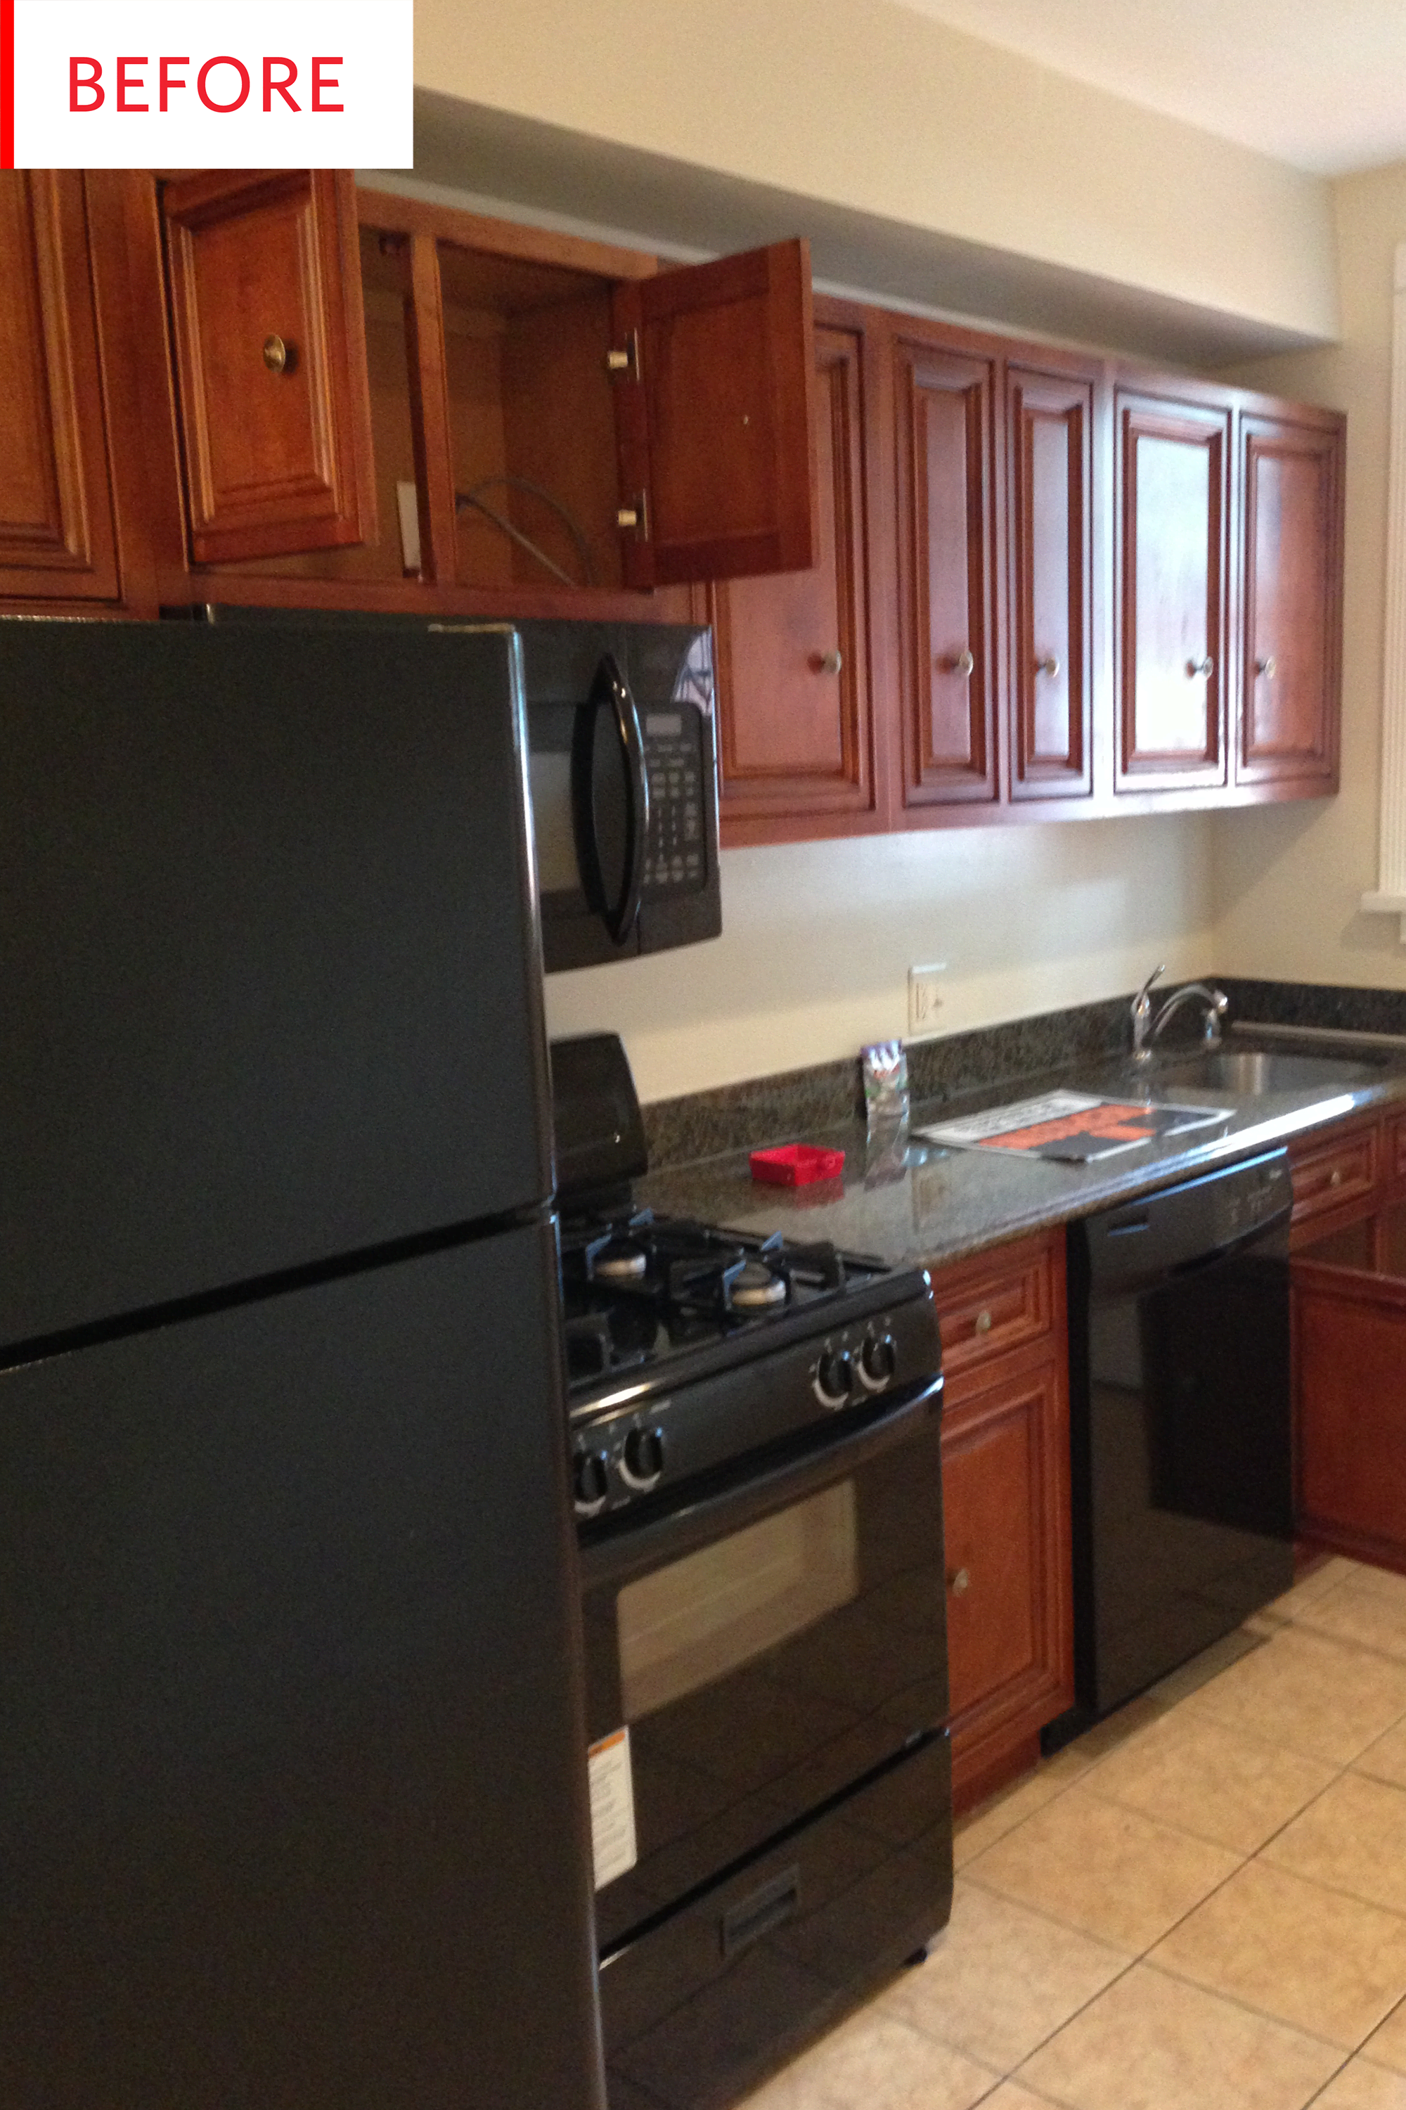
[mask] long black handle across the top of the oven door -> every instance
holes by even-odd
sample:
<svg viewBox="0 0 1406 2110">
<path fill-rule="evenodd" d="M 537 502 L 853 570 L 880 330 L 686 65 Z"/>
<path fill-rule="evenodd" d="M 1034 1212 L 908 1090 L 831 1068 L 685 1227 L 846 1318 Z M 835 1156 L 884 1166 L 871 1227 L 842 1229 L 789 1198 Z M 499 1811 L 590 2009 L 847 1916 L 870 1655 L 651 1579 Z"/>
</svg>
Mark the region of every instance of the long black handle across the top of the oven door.
<svg viewBox="0 0 1406 2110">
<path fill-rule="evenodd" d="M 859 1466 L 897 1443 L 908 1443 L 935 1422 L 942 1407 L 942 1378 L 931 1378 L 918 1393 L 910 1393 L 859 1428 L 830 1437 L 817 1450 L 806 1450 L 800 1458 L 764 1466 L 745 1458 L 718 1485 L 709 1481 L 707 1492 L 697 1500 L 684 1498 L 678 1509 L 663 1517 L 654 1515 L 644 1523 L 623 1521 L 606 1538 L 587 1540 L 581 1547 L 581 1580 L 587 1589 L 602 1582 L 625 1582 L 646 1568 L 692 1553 L 695 1547 L 718 1538 L 724 1532 L 739 1532 L 747 1523 L 790 1502 L 802 1502 L 809 1494 L 819 1494 L 836 1479 L 857 1473 Z"/>
</svg>

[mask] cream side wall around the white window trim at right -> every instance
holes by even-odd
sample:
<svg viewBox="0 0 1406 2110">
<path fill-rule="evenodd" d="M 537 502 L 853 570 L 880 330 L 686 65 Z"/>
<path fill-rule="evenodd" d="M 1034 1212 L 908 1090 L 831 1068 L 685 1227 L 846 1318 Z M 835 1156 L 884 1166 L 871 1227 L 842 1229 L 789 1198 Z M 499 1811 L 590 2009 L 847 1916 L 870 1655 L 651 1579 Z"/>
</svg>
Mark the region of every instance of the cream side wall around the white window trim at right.
<svg viewBox="0 0 1406 2110">
<path fill-rule="evenodd" d="M 1387 559 L 1391 264 L 1406 241 L 1406 162 L 1334 184 L 1343 344 L 1235 369 L 1235 380 L 1347 411 L 1343 791 L 1311 806 L 1220 814 L 1214 958 L 1227 975 L 1406 987 L 1393 916 L 1364 916 L 1376 886 Z"/>
</svg>

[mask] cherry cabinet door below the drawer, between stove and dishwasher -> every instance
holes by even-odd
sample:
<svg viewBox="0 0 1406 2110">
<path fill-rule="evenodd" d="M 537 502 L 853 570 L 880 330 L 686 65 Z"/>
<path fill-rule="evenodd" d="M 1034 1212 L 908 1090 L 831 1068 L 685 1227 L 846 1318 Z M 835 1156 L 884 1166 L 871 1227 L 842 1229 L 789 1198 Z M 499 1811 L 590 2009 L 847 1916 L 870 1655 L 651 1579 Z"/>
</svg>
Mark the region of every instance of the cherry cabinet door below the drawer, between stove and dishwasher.
<svg viewBox="0 0 1406 2110">
<path fill-rule="evenodd" d="M 1072 1699 L 1068 1409 L 1043 1363 L 958 1409 L 942 1441 L 952 1764 L 969 1777 Z"/>
</svg>

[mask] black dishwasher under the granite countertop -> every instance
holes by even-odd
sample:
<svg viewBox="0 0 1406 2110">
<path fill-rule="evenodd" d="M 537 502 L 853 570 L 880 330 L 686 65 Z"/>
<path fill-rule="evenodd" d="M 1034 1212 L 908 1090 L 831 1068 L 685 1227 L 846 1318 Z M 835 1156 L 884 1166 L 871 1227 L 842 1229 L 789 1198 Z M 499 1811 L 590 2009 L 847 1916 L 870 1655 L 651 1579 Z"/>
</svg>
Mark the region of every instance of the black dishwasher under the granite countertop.
<svg viewBox="0 0 1406 2110">
<path fill-rule="evenodd" d="M 1045 1747 L 1294 1572 L 1288 1154 L 1070 1224 L 1075 1692 Z"/>
</svg>

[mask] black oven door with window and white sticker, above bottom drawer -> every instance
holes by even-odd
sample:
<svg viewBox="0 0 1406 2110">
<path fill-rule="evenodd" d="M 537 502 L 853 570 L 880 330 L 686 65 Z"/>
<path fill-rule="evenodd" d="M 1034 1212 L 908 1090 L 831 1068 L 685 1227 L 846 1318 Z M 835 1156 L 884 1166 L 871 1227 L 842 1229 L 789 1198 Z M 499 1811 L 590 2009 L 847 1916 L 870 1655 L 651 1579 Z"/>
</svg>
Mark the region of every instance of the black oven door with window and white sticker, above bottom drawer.
<svg viewBox="0 0 1406 2110">
<path fill-rule="evenodd" d="M 939 1403 L 583 1549 L 604 1956 L 946 1720 Z"/>
</svg>

